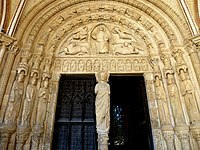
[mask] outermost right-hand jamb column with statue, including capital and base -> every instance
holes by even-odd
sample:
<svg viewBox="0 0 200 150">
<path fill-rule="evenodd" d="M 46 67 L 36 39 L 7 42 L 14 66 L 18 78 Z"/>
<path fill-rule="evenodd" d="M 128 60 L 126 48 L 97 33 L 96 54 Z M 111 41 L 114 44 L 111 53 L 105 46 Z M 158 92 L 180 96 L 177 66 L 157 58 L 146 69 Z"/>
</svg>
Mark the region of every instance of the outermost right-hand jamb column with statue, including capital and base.
<svg viewBox="0 0 200 150">
<path fill-rule="evenodd" d="M 187 113 L 190 120 L 190 129 L 193 137 L 198 142 L 200 149 L 200 113 L 196 102 L 194 87 L 188 73 L 188 67 L 183 58 L 181 49 L 176 48 L 173 50 L 173 57 L 176 60 L 176 70 L 180 78 L 181 95 L 184 98 Z M 196 134 L 198 133 L 198 134 Z M 199 136 L 196 136 L 199 135 Z"/>
</svg>

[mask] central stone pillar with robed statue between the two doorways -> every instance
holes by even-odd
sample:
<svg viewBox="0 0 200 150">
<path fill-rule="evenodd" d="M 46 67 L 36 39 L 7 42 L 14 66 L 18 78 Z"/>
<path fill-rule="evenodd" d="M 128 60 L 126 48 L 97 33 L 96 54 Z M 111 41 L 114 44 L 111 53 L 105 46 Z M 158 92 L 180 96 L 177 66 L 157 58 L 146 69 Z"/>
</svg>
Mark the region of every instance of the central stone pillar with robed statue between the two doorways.
<svg viewBox="0 0 200 150">
<path fill-rule="evenodd" d="M 110 85 L 107 83 L 108 77 L 107 72 L 100 71 L 96 74 L 98 83 L 95 86 L 95 108 L 99 150 L 108 150 L 110 129 Z"/>
</svg>

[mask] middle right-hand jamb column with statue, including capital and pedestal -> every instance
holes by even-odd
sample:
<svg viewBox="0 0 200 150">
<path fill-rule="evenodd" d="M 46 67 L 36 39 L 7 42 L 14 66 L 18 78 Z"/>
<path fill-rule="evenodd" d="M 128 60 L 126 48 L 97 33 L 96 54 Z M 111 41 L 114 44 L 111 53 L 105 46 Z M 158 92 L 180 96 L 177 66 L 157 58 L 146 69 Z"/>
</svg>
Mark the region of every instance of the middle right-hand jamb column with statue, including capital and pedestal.
<svg viewBox="0 0 200 150">
<path fill-rule="evenodd" d="M 189 127 L 186 125 L 186 121 L 184 118 L 181 99 L 179 96 L 178 87 L 175 83 L 174 71 L 172 69 L 170 57 L 168 54 L 163 53 L 161 55 L 161 59 L 164 63 L 164 73 L 167 79 L 167 89 L 175 121 L 175 132 L 177 137 L 181 141 L 182 149 L 190 150 Z"/>
</svg>

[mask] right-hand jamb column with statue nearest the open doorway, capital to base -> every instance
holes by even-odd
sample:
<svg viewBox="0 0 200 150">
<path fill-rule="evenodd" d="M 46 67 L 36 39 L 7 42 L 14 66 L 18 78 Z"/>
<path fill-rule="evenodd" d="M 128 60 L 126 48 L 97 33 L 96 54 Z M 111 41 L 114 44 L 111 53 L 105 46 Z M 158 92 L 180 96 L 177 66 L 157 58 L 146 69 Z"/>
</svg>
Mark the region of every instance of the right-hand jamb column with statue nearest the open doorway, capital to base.
<svg viewBox="0 0 200 150">
<path fill-rule="evenodd" d="M 154 70 L 154 84 L 156 91 L 156 98 L 158 103 L 158 113 L 160 118 L 160 126 L 163 137 L 166 141 L 167 148 L 175 149 L 174 145 L 174 131 L 171 124 L 171 117 L 168 107 L 166 92 L 162 82 L 161 71 L 159 67 L 159 58 L 152 58 L 151 65 Z"/>
</svg>

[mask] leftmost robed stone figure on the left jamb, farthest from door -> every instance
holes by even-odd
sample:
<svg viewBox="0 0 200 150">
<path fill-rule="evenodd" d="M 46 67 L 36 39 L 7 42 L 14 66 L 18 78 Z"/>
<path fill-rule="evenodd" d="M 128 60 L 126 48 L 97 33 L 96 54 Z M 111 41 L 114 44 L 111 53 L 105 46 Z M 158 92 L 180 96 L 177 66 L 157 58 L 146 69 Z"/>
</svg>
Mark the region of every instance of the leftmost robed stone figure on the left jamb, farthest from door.
<svg viewBox="0 0 200 150">
<path fill-rule="evenodd" d="M 17 80 L 14 81 L 5 113 L 5 124 L 16 124 L 24 90 L 24 77 L 25 71 L 21 70 L 18 73 Z"/>
</svg>

